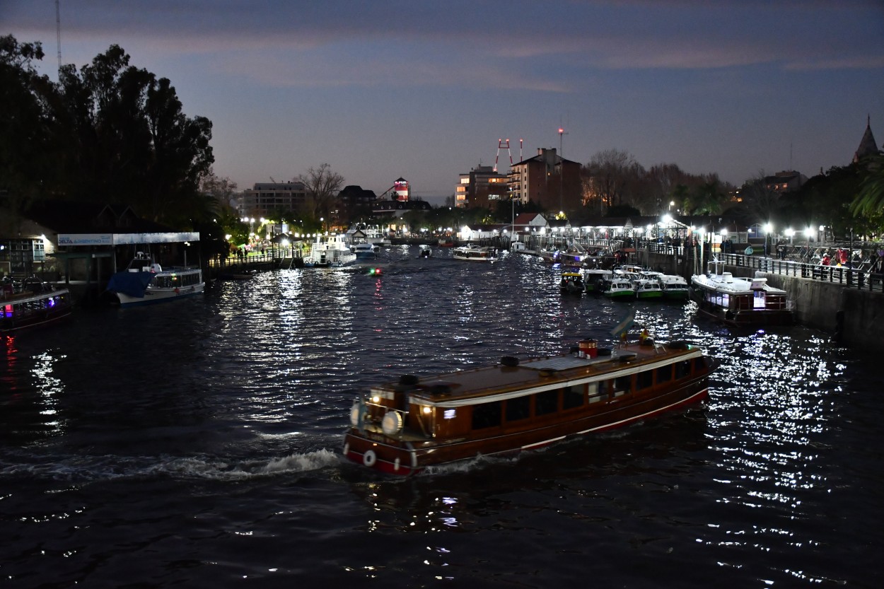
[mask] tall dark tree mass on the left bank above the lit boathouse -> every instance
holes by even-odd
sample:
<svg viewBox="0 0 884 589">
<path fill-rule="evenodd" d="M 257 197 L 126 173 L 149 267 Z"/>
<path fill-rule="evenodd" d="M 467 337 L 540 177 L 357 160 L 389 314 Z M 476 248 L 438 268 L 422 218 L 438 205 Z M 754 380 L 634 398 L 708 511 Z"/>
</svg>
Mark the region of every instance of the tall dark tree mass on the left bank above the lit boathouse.
<svg viewBox="0 0 884 589">
<path fill-rule="evenodd" d="M 15 113 L 0 127 L 4 187 L 131 206 L 179 228 L 210 217 L 199 183 L 214 161 L 211 122 L 187 118 L 169 80 L 130 65 L 118 45 L 79 71 L 65 65 L 57 84 L 34 72 L 42 57 L 39 43 L 0 39 L 0 108 Z M 7 157 L 10 146 L 19 155 Z"/>
</svg>

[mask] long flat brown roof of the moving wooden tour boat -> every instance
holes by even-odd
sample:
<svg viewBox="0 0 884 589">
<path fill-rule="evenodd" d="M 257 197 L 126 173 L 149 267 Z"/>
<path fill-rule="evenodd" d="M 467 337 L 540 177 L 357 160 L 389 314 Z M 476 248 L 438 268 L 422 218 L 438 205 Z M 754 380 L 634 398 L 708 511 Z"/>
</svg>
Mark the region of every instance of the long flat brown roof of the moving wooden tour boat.
<svg viewBox="0 0 884 589">
<path fill-rule="evenodd" d="M 499 363 L 438 374 L 421 379 L 417 385 L 408 388 L 408 395 L 413 402 L 424 405 L 459 407 L 553 390 L 577 380 L 585 382 L 626 376 L 702 355 L 700 348 L 684 342 L 629 344 L 613 349 L 610 356 L 543 356 L 522 360 L 516 366 Z M 400 387 L 397 383 L 390 383 L 372 387 L 372 392 L 401 390 Z"/>
</svg>

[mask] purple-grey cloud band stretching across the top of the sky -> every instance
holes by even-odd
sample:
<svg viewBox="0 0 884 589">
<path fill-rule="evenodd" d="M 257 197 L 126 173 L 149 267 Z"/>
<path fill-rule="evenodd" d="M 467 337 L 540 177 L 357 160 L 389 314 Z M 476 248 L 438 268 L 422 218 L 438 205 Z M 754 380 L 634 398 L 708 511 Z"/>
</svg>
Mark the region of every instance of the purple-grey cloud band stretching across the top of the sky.
<svg viewBox="0 0 884 589">
<path fill-rule="evenodd" d="M 18 27 L 54 37 L 54 14 L 4 0 Z M 51 4 L 51 3 L 44 3 Z M 572 0 L 325 3 L 277 0 L 62 1 L 63 43 L 111 43 L 143 61 L 207 57 L 271 86 L 399 83 L 562 93 L 594 71 L 880 68 L 884 9 L 871 0 Z M 874 27 L 878 17 L 878 27 Z M 831 25 L 831 26 L 827 26 Z M 52 34 L 50 37 L 49 34 Z M 868 42 L 862 42 L 866 39 Z"/>
</svg>

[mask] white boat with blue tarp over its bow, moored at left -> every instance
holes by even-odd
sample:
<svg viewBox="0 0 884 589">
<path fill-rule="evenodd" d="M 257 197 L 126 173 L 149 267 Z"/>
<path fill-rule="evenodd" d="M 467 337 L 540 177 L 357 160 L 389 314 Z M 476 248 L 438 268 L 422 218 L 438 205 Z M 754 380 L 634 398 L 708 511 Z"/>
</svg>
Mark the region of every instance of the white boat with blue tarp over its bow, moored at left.
<svg viewBox="0 0 884 589">
<path fill-rule="evenodd" d="M 138 252 L 126 270 L 110 277 L 107 290 L 117 295 L 121 306 L 131 307 L 179 301 L 201 295 L 205 287 L 200 268 L 163 268 L 148 254 Z"/>
</svg>

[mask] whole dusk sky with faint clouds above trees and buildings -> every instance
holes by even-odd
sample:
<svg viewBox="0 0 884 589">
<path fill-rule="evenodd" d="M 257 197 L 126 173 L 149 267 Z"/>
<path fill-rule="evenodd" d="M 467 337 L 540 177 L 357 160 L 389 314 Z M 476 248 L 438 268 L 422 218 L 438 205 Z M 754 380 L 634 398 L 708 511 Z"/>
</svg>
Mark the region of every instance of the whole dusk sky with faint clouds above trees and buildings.
<svg viewBox="0 0 884 589">
<path fill-rule="evenodd" d="M 884 1 L 60 0 L 78 68 L 118 44 L 213 123 L 240 188 L 328 163 L 378 195 L 441 204 L 458 174 L 561 145 L 639 164 L 807 176 L 884 142 Z M 40 41 L 54 0 L 0 0 L 0 34 Z M 562 126 L 565 134 L 559 134 Z M 509 153 L 502 149 L 499 171 Z"/>
</svg>

